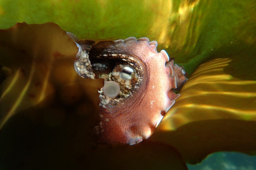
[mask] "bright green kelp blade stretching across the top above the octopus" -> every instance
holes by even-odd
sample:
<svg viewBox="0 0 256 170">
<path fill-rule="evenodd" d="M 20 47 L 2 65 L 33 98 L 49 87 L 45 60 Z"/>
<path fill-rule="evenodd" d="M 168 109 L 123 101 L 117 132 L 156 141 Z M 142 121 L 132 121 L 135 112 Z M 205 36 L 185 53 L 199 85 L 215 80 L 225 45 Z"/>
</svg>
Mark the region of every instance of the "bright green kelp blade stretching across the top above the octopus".
<svg viewBox="0 0 256 170">
<path fill-rule="evenodd" d="M 1 0 L 0 28 L 55 22 L 79 39 L 148 37 L 189 75 L 216 50 L 255 40 L 256 1 Z"/>
</svg>

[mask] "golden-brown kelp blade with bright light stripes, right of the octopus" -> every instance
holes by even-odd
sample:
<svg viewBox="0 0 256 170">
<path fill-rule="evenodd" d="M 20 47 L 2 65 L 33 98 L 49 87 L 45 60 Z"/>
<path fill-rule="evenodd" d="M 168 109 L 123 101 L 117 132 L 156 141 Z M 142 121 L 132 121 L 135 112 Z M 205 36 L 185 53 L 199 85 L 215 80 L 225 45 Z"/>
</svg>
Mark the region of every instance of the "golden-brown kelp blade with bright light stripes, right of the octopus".
<svg viewBox="0 0 256 170">
<path fill-rule="evenodd" d="M 188 163 L 217 151 L 256 154 L 256 76 L 240 79 L 234 69 L 252 77 L 253 67 L 245 71 L 251 61 L 240 60 L 245 54 L 254 55 L 244 51 L 201 64 L 149 140 L 170 144 Z"/>
</svg>

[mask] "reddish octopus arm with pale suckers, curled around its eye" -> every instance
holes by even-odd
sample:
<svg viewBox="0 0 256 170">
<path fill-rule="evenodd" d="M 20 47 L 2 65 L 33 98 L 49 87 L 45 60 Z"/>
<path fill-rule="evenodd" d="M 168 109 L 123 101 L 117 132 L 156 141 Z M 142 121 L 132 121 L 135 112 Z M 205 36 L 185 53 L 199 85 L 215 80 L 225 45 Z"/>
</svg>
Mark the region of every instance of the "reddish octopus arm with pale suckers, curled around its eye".
<svg viewBox="0 0 256 170">
<path fill-rule="evenodd" d="M 86 43 L 78 41 L 82 49 Z M 177 89 L 176 78 L 185 77 L 181 72 L 183 68 L 175 68 L 177 72 L 174 73 L 173 59 L 169 61 L 167 53 L 164 50 L 158 53 L 156 47 L 155 41 L 134 37 L 101 41 L 92 46 L 89 56 L 118 54 L 130 57 L 140 77 L 136 88 L 126 98 L 109 99 L 100 92 L 101 121 L 95 127 L 97 143 L 133 145 L 148 138 L 179 97 L 172 89 Z"/>
</svg>

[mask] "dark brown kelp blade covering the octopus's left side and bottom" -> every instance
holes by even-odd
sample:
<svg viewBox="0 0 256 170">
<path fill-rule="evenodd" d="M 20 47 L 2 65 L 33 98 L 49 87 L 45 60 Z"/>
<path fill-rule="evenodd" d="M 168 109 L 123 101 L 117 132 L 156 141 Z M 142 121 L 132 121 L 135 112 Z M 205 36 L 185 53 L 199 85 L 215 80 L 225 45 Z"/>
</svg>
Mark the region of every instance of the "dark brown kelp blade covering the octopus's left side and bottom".
<svg viewBox="0 0 256 170">
<path fill-rule="evenodd" d="M 55 23 L 0 30 L 0 169 L 187 169 L 169 145 L 94 143 L 103 79 L 75 72 L 77 50 Z"/>
</svg>

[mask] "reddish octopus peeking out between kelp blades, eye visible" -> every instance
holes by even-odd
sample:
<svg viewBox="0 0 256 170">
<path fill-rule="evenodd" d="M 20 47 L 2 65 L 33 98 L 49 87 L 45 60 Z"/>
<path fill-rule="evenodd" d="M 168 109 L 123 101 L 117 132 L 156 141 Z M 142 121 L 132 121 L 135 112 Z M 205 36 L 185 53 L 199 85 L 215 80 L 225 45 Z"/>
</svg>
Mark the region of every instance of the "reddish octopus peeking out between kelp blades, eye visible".
<svg viewBox="0 0 256 170">
<path fill-rule="evenodd" d="M 148 38 L 78 40 L 75 71 L 83 78 L 103 78 L 99 92 L 99 144 L 137 144 L 147 139 L 180 95 L 187 80 L 182 66 Z"/>
</svg>

